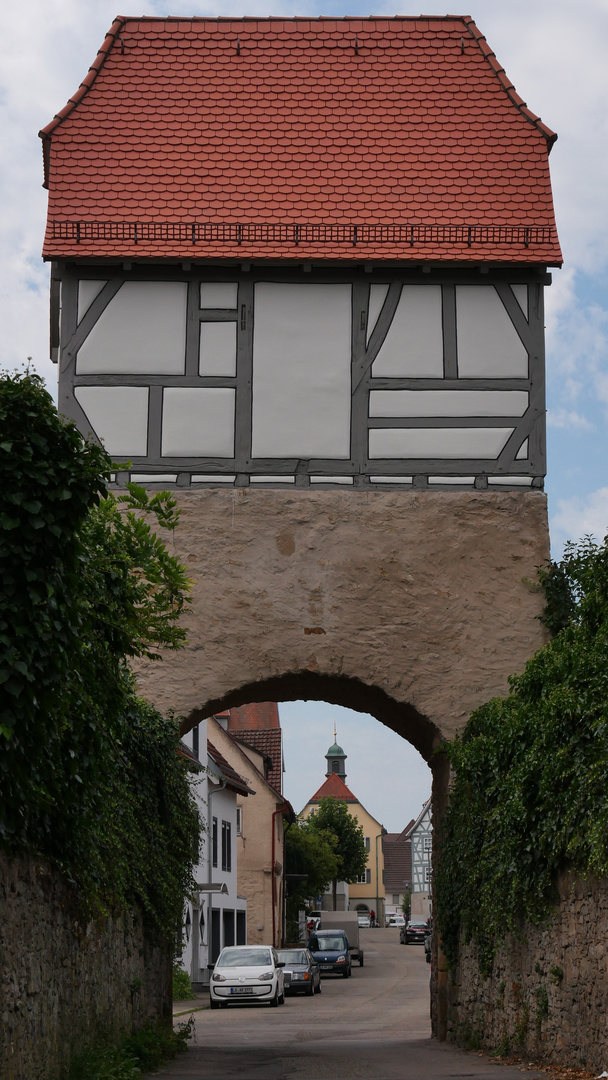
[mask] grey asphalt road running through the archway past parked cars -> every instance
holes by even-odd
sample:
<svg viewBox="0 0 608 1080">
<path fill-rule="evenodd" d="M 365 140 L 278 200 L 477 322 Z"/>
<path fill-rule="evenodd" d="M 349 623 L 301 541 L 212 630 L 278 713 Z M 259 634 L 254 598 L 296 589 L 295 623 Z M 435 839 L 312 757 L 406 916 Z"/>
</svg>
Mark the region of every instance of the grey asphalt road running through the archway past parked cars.
<svg viewBox="0 0 608 1080">
<path fill-rule="evenodd" d="M 325 977 L 322 994 L 313 998 L 288 997 L 279 1009 L 239 1004 L 197 1012 L 188 1053 L 154 1075 L 171 1080 L 523 1080 L 516 1067 L 431 1039 L 430 967 L 420 945 L 400 945 L 394 929 L 364 930 L 362 945 L 365 967 L 355 964 L 351 978 Z M 526 1076 L 536 1080 L 543 1074 Z"/>
</svg>

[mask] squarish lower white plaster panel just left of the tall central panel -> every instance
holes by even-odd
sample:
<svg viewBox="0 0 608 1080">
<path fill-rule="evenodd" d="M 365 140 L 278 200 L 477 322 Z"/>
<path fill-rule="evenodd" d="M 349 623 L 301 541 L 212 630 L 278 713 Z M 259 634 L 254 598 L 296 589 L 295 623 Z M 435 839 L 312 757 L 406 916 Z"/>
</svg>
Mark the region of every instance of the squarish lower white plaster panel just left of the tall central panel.
<svg viewBox="0 0 608 1080">
<path fill-rule="evenodd" d="M 234 391 L 167 387 L 163 392 L 163 457 L 231 458 Z"/>
</svg>

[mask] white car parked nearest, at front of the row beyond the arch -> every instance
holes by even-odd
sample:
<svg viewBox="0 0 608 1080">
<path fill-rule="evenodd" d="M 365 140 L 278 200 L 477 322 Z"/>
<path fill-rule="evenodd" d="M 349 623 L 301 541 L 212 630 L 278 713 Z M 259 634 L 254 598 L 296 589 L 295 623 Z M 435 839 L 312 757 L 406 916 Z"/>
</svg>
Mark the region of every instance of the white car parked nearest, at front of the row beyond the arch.
<svg viewBox="0 0 608 1080">
<path fill-rule="evenodd" d="M 230 945 L 219 954 L 210 984 L 210 1005 L 285 1003 L 283 968 L 271 945 Z"/>
</svg>

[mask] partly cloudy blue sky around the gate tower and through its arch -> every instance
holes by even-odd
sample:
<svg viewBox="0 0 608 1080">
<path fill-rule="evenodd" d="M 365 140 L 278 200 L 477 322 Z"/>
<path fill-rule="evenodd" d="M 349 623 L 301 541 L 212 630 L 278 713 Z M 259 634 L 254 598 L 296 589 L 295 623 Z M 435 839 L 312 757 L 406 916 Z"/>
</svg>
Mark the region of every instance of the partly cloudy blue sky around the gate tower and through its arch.
<svg viewBox="0 0 608 1080">
<path fill-rule="evenodd" d="M 24 0 L 12 5 L 0 41 L 0 368 L 18 368 L 31 356 L 49 388 L 55 388 L 56 372 L 48 360 L 49 268 L 40 257 L 46 192 L 37 135 L 78 87 L 117 14 L 421 11 L 446 13 L 437 4 L 424 8 L 422 0 L 137 0 L 136 8 L 126 4 L 121 11 L 116 0 Z M 608 531 L 608 2 L 469 0 L 459 13 L 473 16 L 524 100 L 558 134 L 550 160 L 564 269 L 552 271 L 553 285 L 546 291 L 546 490 L 552 550 L 559 557 L 566 540 L 585 534 L 603 538 Z M 297 706 L 282 706 L 287 767 L 289 730 L 297 733 L 303 726 L 309 740 L 306 765 L 301 731 L 294 742 L 298 784 L 301 779 L 303 785 L 294 786 L 294 806 L 303 805 L 323 779 L 337 708 L 311 703 L 298 713 Z M 373 718 L 366 723 L 367 729 L 359 714 L 338 720 L 349 754 L 348 780 L 369 812 L 396 831 L 427 797 L 429 772 L 398 737 Z M 391 740 L 401 745 L 392 746 Z M 369 768 L 370 747 L 377 770 Z M 397 750 L 404 755 L 398 762 Z M 403 824 L 396 810 L 391 811 L 395 820 L 389 820 L 383 780 L 374 779 L 387 760 L 416 793 L 411 805 L 400 808 L 406 815 Z M 418 777 L 427 784 L 425 794 L 419 794 Z"/>
</svg>

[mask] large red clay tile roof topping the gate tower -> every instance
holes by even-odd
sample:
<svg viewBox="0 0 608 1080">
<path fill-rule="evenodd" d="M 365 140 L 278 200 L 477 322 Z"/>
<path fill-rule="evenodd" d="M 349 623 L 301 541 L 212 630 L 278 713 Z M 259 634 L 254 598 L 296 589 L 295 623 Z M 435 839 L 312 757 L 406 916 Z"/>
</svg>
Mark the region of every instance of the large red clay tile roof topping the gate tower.
<svg viewBox="0 0 608 1080">
<path fill-rule="evenodd" d="M 469 16 L 121 16 L 40 134 L 45 258 L 562 261 L 555 136 Z"/>
</svg>

